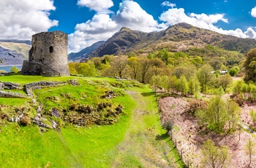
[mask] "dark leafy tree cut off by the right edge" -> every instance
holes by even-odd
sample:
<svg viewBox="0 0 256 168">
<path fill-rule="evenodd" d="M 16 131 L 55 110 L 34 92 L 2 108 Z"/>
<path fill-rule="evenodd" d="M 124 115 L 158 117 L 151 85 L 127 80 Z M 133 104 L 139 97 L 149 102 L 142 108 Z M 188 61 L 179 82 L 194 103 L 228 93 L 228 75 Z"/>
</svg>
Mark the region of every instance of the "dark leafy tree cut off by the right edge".
<svg viewBox="0 0 256 168">
<path fill-rule="evenodd" d="M 248 53 L 245 54 L 246 61 L 244 62 L 244 69 L 246 71 L 246 75 L 244 80 L 247 82 L 252 80 L 254 83 L 256 82 L 256 48 L 249 50 Z"/>
</svg>

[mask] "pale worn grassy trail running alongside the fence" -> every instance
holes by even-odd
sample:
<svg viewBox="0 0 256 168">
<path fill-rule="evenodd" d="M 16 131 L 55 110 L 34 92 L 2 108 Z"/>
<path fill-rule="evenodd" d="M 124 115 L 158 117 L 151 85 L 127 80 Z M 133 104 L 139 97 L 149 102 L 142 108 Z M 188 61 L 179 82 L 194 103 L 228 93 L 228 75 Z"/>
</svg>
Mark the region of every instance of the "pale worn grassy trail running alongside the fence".
<svg viewBox="0 0 256 168">
<path fill-rule="evenodd" d="M 171 152 L 172 142 L 160 126 L 155 97 L 140 92 L 129 94 L 138 105 L 124 141 L 118 145 L 113 167 L 180 167 Z"/>
</svg>

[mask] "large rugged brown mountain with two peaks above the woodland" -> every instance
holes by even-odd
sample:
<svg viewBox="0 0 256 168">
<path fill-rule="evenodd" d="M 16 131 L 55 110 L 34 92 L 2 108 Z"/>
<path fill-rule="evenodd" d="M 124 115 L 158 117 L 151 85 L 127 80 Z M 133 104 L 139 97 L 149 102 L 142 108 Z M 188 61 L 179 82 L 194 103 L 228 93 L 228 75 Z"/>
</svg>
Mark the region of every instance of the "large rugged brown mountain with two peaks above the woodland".
<svg viewBox="0 0 256 168">
<path fill-rule="evenodd" d="M 113 37 L 110 37 L 88 57 L 120 55 L 129 52 L 153 53 L 154 50 L 163 48 L 173 52 L 186 51 L 190 47 L 202 48 L 206 45 L 245 53 L 252 47 L 256 47 L 256 40 L 219 34 L 187 23 L 178 23 L 163 31 L 151 33 L 121 28 L 120 31 L 113 34 Z"/>
</svg>

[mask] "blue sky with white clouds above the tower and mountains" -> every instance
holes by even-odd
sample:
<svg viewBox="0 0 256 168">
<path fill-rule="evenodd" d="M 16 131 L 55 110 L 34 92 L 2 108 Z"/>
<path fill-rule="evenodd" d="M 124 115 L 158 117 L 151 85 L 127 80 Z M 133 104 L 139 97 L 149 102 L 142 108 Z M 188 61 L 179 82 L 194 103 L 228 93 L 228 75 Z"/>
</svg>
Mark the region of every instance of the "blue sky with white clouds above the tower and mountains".
<svg viewBox="0 0 256 168">
<path fill-rule="evenodd" d="M 150 32 L 180 22 L 256 39 L 252 0 L 8 0 L 0 1 L 0 11 L 0 39 L 61 30 L 69 34 L 69 52 L 106 40 L 123 26 Z"/>
</svg>

